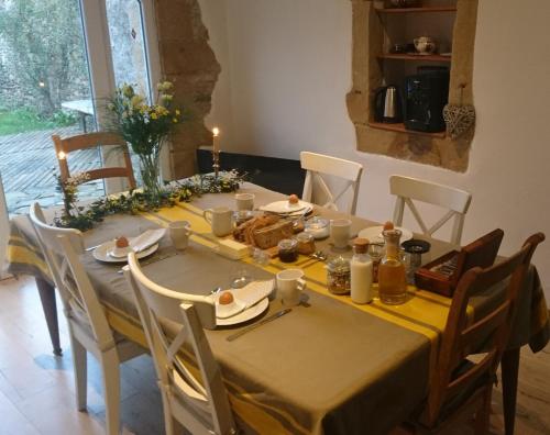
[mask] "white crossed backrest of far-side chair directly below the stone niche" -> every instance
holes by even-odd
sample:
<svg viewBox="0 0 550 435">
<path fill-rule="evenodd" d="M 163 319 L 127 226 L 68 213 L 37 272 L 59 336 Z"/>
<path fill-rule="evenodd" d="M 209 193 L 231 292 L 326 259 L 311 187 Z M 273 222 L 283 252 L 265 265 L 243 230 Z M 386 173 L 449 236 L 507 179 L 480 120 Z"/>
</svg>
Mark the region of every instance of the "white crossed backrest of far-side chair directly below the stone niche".
<svg viewBox="0 0 550 435">
<path fill-rule="evenodd" d="M 408 205 L 422 233 L 427 236 L 432 236 L 446 222 L 454 217 L 450 242 L 453 245 L 460 245 L 464 217 L 472 200 L 471 193 L 449 186 L 397 175 L 389 177 L 389 192 L 397 197 L 394 209 L 395 225 L 403 224 L 405 204 Z M 448 212 L 431 227 L 428 227 L 413 200 L 446 208 Z"/>
</svg>

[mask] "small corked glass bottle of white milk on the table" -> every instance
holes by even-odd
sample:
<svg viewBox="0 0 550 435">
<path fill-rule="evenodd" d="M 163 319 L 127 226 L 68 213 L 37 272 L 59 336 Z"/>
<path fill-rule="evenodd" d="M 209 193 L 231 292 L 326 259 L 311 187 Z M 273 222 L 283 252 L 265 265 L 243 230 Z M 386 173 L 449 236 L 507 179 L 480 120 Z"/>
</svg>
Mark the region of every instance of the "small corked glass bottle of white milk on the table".
<svg viewBox="0 0 550 435">
<path fill-rule="evenodd" d="M 351 300 L 355 303 L 372 301 L 373 261 L 367 254 L 369 239 L 353 241 L 353 257 L 350 261 L 351 270 Z"/>
</svg>

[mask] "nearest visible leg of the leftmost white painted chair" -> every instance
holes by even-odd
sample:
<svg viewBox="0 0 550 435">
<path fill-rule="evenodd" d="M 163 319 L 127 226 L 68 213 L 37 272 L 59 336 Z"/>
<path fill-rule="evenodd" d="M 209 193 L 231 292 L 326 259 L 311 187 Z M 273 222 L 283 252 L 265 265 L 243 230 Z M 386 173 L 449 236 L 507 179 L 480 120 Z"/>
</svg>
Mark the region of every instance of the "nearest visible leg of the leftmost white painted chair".
<svg viewBox="0 0 550 435">
<path fill-rule="evenodd" d="M 120 417 L 120 360 L 117 349 L 112 348 L 101 354 L 103 371 L 103 400 L 106 408 L 107 434 L 119 433 Z"/>
</svg>

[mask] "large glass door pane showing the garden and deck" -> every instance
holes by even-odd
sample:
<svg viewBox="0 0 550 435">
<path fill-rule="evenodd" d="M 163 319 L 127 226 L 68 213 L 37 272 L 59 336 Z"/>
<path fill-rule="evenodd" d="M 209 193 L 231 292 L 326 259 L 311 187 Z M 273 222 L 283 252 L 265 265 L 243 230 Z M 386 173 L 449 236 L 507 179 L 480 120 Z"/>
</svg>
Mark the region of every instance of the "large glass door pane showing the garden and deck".
<svg viewBox="0 0 550 435">
<path fill-rule="evenodd" d="M 0 172 L 10 213 L 61 202 L 52 135 L 95 130 L 78 0 L 0 1 Z M 97 149 L 72 153 L 69 170 L 101 165 Z M 105 194 L 102 181 L 79 198 Z"/>
</svg>

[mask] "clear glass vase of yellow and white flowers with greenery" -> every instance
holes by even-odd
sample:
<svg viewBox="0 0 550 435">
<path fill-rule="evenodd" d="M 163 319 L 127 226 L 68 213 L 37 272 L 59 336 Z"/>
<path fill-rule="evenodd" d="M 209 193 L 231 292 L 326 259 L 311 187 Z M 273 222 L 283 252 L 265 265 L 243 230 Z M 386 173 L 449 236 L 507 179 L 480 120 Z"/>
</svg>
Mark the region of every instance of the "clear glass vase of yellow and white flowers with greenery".
<svg viewBox="0 0 550 435">
<path fill-rule="evenodd" d="M 156 104 L 147 104 L 132 85 L 124 83 L 108 104 L 114 130 L 140 158 L 143 191 L 153 201 L 162 193 L 161 150 L 180 121 L 180 111 L 173 108 L 172 88 L 169 81 L 158 83 Z"/>
</svg>

